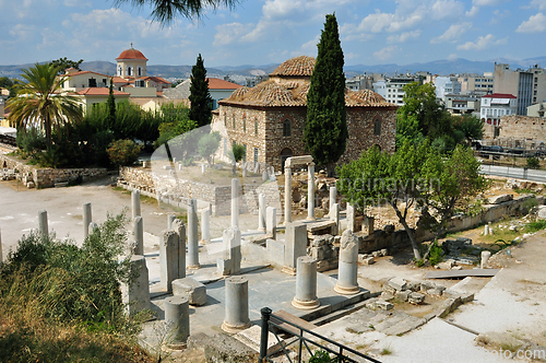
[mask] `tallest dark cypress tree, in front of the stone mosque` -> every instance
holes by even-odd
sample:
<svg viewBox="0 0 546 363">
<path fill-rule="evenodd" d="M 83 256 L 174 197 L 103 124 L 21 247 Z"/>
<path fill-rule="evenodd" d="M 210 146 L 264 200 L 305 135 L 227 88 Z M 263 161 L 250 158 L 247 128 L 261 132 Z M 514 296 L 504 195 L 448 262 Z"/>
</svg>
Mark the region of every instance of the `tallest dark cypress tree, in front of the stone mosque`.
<svg viewBox="0 0 546 363">
<path fill-rule="evenodd" d="M 344 60 L 335 14 L 327 15 L 318 48 L 307 94 L 304 142 L 314 162 L 327 165 L 332 174 L 334 163 L 345 152 L 348 137 Z"/>
</svg>

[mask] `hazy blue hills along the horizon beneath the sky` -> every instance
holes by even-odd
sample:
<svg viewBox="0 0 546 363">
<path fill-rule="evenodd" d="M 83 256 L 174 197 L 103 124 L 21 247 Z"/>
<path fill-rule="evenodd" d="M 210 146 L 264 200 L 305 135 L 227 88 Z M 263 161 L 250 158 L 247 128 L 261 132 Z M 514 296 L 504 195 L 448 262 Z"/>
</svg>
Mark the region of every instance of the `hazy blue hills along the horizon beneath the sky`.
<svg viewBox="0 0 546 363">
<path fill-rule="evenodd" d="M 443 59 L 443 60 L 435 60 L 425 63 L 411 63 L 405 66 L 400 66 L 395 63 L 387 63 L 387 65 L 357 65 L 357 66 L 346 66 L 345 73 L 347 78 L 363 74 L 363 73 L 385 73 L 393 74 L 395 72 L 406 73 L 406 72 L 418 72 L 425 71 L 430 72 L 432 74 L 456 74 L 456 73 L 478 73 L 482 74 L 484 72 L 492 72 L 495 70 L 495 62 L 508 63 L 511 69 L 527 69 L 533 67 L 534 65 L 538 65 L 538 67 L 546 68 L 546 57 L 536 57 L 529 58 L 524 60 L 511 60 L 506 58 L 496 58 L 488 61 L 473 61 L 466 60 L 462 58 L 458 59 Z M 21 78 L 21 69 L 28 68 L 32 65 L 19 65 L 19 66 L 0 66 L 0 77 L 10 77 L 10 78 Z M 163 77 L 165 79 L 180 79 L 180 78 L 189 78 L 191 74 L 192 66 L 147 66 L 147 73 L 150 75 Z M 225 75 L 229 75 L 234 80 L 238 80 L 238 82 L 242 81 L 247 77 L 253 75 L 262 75 L 271 73 L 276 67 L 277 63 L 270 63 L 265 66 L 222 66 L 216 68 L 207 68 L 207 75 L 215 78 L 224 78 Z M 92 70 L 99 73 L 105 74 L 115 74 L 116 73 L 116 63 L 109 61 L 87 61 L 83 62 L 81 66 L 82 70 Z"/>
</svg>

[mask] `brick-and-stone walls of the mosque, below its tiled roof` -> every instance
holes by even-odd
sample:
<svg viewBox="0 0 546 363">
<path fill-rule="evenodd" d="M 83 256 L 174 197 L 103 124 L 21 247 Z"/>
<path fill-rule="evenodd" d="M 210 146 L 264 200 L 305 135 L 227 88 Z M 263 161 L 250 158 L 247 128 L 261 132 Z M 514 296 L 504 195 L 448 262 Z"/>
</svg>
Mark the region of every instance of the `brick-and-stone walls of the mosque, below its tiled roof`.
<svg viewBox="0 0 546 363">
<path fill-rule="evenodd" d="M 290 136 L 283 136 L 284 121 L 292 126 Z M 219 131 L 223 140 L 216 157 L 229 161 L 226 151 L 232 142 L 247 147 L 246 161 L 254 162 L 254 148 L 258 149 L 258 163 L 281 169 L 282 154 L 306 155 L 302 142 L 304 126 L 307 119 L 306 107 L 244 107 L 221 105 L 213 116 L 212 129 Z M 375 120 L 381 120 L 380 134 L 373 134 Z M 396 134 L 396 107 L 347 107 L 348 139 L 345 153 L 340 162 L 358 159 L 364 150 L 379 145 L 381 150 L 394 152 Z M 285 153 L 283 153 L 285 151 Z"/>
</svg>

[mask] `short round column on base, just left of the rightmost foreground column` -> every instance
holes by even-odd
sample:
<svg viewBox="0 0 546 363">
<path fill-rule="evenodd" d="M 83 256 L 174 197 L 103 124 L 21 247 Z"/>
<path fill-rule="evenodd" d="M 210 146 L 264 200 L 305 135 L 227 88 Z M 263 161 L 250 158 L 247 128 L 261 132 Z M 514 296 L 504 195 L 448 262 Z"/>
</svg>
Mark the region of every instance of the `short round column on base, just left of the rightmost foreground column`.
<svg viewBox="0 0 546 363">
<path fill-rule="evenodd" d="M 317 260 L 310 256 L 298 257 L 296 296 L 292 306 L 311 309 L 320 305 L 317 297 Z"/>
</svg>

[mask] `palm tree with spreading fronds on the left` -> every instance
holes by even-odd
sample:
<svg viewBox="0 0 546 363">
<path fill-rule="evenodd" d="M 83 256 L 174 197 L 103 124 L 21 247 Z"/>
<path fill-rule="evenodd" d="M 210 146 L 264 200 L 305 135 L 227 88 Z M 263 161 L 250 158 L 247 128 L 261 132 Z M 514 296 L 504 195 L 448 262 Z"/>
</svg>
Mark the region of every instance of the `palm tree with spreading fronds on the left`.
<svg viewBox="0 0 546 363">
<path fill-rule="evenodd" d="M 58 77 L 59 68 L 51 63 L 34 65 L 21 74 L 26 83 L 19 86 L 17 95 L 8 101 L 10 119 L 17 129 L 40 125 L 46 132 L 48 148 L 51 145 L 51 129 L 68 121 L 81 121 L 83 110 L 79 98 L 62 94 L 66 77 Z"/>
</svg>

